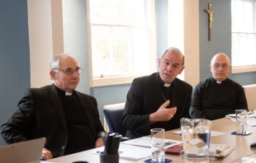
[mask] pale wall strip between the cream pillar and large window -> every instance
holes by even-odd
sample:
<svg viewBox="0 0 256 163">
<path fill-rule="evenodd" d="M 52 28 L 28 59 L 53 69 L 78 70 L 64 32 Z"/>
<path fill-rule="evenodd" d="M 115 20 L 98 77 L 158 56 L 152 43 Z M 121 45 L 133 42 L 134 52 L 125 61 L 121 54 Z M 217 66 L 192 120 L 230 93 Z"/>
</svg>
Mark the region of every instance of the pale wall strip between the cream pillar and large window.
<svg viewBox="0 0 256 163">
<path fill-rule="evenodd" d="M 90 95 L 87 2 L 63 0 L 63 35 L 64 52 L 78 58 L 82 68 L 77 90 Z"/>
</svg>

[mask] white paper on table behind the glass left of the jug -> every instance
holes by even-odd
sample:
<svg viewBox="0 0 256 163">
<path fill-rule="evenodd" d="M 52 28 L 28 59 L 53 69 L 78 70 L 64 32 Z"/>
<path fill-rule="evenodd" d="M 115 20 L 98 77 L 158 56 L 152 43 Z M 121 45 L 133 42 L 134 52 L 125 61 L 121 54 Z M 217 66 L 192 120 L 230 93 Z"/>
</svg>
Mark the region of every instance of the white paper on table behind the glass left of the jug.
<svg viewBox="0 0 256 163">
<path fill-rule="evenodd" d="M 164 149 L 168 147 L 173 147 L 175 145 L 182 144 L 182 143 L 183 143 L 182 141 L 164 139 Z M 128 144 L 128 145 L 139 146 L 139 147 L 150 147 L 151 137 L 135 138 L 129 141 L 121 142 L 121 144 Z"/>
</svg>

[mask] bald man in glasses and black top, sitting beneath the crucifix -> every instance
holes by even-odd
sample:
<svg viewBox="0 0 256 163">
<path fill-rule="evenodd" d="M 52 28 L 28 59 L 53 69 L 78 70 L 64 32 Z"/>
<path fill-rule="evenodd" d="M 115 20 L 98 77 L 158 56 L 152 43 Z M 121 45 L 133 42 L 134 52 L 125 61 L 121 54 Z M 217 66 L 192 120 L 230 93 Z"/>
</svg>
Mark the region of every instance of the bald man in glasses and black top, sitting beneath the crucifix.
<svg viewBox="0 0 256 163">
<path fill-rule="evenodd" d="M 214 120 L 235 114 L 235 109 L 248 109 L 244 88 L 228 78 L 230 58 L 216 54 L 210 70 L 212 77 L 199 82 L 192 92 L 191 117 Z"/>
</svg>

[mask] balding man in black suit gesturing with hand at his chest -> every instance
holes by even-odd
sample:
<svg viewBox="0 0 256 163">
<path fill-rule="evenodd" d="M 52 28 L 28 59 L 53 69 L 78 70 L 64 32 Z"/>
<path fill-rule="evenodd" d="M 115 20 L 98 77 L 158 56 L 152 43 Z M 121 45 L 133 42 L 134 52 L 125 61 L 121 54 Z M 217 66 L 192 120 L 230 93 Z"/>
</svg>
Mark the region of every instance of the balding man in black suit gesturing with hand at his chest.
<svg viewBox="0 0 256 163">
<path fill-rule="evenodd" d="M 132 81 L 122 118 L 126 137 L 149 135 L 150 128 L 180 128 L 180 119 L 189 118 L 192 86 L 176 78 L 184 68 L 183 54 L 169 48 L 159 58 L 159 72 Z"/>
</svg>

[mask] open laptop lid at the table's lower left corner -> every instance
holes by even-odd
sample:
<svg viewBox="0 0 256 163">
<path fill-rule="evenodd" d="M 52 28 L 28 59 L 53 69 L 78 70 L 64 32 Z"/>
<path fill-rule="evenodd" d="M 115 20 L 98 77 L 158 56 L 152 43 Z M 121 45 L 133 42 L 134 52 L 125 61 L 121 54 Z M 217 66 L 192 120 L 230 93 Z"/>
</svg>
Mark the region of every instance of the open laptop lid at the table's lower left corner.
<svg viewBox="0 0 256 163">
<path fill-rule="evenodd" d="M 0 147 L 0 163 L 40 163 L 45 137 Z"/>
</svg>

